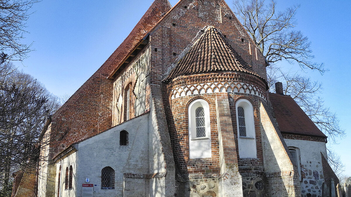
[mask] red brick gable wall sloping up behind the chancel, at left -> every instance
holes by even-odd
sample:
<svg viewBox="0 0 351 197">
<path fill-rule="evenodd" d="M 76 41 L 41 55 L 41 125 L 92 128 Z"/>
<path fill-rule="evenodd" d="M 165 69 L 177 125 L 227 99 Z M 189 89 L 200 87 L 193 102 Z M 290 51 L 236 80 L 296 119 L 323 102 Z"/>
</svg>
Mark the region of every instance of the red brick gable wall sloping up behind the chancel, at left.
<svg viewBox="0 0 351 197">
<path fill-rule="evenodd" d="M 55 120 L 64 120 L 71 128 L 60 149 L 67 145 L 95 135 L 112 125 L 112 88 L 113 83 L 107 76 L 166 13 L 171 9 L 167 0 L 155 0 L 144 16 L 121 45 L 104 64 L 69 98 L 53 115 Z"/>
</svg>

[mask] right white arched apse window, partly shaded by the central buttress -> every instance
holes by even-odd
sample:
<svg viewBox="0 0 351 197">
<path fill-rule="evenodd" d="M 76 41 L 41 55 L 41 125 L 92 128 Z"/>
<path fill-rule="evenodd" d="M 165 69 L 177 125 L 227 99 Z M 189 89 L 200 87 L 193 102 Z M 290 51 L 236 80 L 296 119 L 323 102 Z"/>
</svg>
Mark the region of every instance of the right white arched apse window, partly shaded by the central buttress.
<svg viewBox="0 0 351 197">
<path fill-rule="evenodd" d="M 257 158 L 256 132 L 253 107 L 250 101 L 236 102 L 237 134 L 240 158 Z"/>
</svg>

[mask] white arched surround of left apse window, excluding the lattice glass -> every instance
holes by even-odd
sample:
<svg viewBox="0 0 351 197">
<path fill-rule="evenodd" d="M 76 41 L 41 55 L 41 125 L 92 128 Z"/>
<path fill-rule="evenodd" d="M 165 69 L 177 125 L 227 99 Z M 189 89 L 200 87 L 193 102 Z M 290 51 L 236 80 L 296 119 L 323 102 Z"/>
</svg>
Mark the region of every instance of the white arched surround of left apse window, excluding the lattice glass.
<svg viewBox="0 0 351 197">
<path fill-rule="evenodd" d="M 196 134 L 196 109 L 204 108 L 205 113 L 205 136 L 197 137 Z M 210 158 L 211 150 L 211 126 L 210 126 L 210 106 L 207 101 L 197 99 L 192 101 L 188 107 L 188 131 L 189 131 L 189 158 Z"/>
</svg>

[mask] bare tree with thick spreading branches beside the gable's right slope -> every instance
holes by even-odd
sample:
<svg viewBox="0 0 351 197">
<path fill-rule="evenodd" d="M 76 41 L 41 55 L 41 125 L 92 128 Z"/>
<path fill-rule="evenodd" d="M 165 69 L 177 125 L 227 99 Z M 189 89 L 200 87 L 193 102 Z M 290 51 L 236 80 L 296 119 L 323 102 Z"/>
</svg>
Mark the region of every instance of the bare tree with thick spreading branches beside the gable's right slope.
<svg viewBox="0 0 351 197">
<path fill-rule="evenodd" d="M 299 6 L 287 8 L 284 12 L 275 8 L 274 0 L 268 5 L 264 0 L 234 1 L 235 14 L 268 62 L 286 60 L 298 63 L 302 69 L 316 69 L 324 73 L 324 64 L 312 61 L 311 42 L 302 32 L 293 29 Z"/>
</svg>

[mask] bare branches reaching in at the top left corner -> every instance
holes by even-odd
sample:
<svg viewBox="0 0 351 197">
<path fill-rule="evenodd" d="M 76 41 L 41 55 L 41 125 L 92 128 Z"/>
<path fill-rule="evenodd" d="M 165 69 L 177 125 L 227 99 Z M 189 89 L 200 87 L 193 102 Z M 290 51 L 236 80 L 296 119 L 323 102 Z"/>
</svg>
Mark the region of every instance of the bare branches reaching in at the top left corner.
<svg viewBox="0 0 351 197">
<path fill-rule="evenodd" d="M 40 0 L 0 0 L 0 58 L 23 60 L 31 51 L 21 43 L 31 7 Z"/>
</svg>

